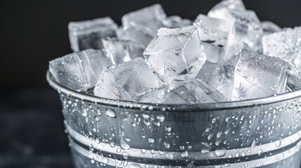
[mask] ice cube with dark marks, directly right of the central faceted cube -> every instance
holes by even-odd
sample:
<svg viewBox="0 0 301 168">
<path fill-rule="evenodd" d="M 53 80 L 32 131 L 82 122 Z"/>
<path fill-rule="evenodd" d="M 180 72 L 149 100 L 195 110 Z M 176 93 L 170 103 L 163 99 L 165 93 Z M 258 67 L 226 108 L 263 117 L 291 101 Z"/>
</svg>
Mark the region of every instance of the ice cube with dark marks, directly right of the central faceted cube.
<svg viewBox="0 0 301 168">
<path fill-rule="evenodd" d="M 194 26 L 199 30 L 207 60 L 213 63 L 221 62 L 224 57 L 225 42 L 233 26 L 232 22 L 208 18 L 201 14 L 196 18 Z"/>
</svg>

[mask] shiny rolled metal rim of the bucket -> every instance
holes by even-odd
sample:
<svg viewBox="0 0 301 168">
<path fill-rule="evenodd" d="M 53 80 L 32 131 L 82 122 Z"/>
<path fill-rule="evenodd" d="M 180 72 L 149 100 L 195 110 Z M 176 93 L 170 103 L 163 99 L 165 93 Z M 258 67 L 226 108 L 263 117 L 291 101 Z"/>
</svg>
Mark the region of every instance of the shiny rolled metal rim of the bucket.
<svg viewBox="0 0 301 168">
<path fill-rule="evenodd" d="M 141 109 L 143 111 L 220 111 L 229 109 L 243 109 L 248 107 L 263 106 L 267 104 L 276 104 L 290 99 L 301 97 L 301 90 L 286 92 L 269 97 L 261 97 L 258 99 L 246 99 L 233 102 L 216 102 L 216 103 L 201 103 L 201 104 L 154 104 L 143 102 L 132 102 L 126 100 L 114 100 L 103 97 L 96 97 L 91 94 L 85 94 L 69 89 L 60 83 L 56 82 L 52 74 L 48 70 L 46 72 L 46 80 L 54 90 L 65 94 L 68 97 L 90 102 L 92 104 L 102 104 L 105 106 L 118 107 L 123 109 Z"/>
</svg>

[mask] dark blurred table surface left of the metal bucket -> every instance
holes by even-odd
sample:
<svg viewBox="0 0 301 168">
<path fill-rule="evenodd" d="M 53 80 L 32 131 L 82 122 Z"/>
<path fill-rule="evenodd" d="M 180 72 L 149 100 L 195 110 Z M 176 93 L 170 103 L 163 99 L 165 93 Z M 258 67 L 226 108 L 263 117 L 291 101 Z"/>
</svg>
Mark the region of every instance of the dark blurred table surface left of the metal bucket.
<svg viewBox="0 0 301 168">
<path fill-rule="evenodd" d="M 54 90 L 0 92 L 0 167 L 72 167 Z"/>
</svg>

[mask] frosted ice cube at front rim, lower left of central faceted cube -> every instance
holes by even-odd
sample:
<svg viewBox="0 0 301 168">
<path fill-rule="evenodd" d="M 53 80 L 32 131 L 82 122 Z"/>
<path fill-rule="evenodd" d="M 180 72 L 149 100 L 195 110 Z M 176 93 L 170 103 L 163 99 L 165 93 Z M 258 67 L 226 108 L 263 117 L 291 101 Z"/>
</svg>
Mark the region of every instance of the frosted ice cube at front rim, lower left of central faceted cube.
<svg viewBox="0 0 301 168">
<path fill-rule="evenodd" d="M 107 99 L 135 101 L 135 97 L 143 92 L 163 85 L 145 59 L 139 57 L 123 64 L 107 66 L 95 86 L 94 94 Z"/>
</svg>

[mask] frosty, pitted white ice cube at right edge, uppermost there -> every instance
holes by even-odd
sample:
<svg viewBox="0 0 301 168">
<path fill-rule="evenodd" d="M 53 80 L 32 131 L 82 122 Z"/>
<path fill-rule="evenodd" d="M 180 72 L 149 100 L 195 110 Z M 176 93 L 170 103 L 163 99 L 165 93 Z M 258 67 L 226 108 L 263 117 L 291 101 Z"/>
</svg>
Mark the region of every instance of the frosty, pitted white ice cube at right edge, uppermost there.
<svg viewBox="0 0 301 168">
<path fill-rule="evenodd" d="M 280 57 L 290 62 L 297 45 L 297 38 L 301 34 L 301 27 L 286 29 L 274 34 L 266 34 L 262 37 L 263 52 L 265 55 Z"/>
</svg>

